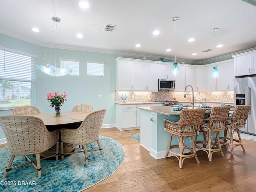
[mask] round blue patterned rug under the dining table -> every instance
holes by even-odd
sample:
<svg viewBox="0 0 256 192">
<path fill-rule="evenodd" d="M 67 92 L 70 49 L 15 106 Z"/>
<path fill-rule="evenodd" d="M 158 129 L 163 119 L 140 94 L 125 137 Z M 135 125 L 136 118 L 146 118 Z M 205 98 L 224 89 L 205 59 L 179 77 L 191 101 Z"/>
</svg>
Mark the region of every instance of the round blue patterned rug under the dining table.
<svg viewBox="0 0 256 192">
<path fill-rule="evenodd" d="M 41 178 L 38 178 L 37 171 L 32 165 L 11 170 L 7 178 L 3 178 L 10 152 L 8 146 L 0 148 L 0 191 L 78 192 L 85 190 L 113 174 L 124 162 L 125 151 L 119 142 L 100 136 L 100 144 L 103 154 L 100 154 L 100 151 L 88 152 L 88 166 L 85 166 L 84 153 L 72 154 L 63 161 L 61 159 L 41 160 Z M 88 145 L 88 150 L 89 148 L 98 148 L 98 145 L 94 142 Z M 15 156 L 12 166 L 17 165 L 18 162 L 24 162 L 24 156 Z M 2 185 L 4 182 L 6 185 Z M 13 185 L 10 185 L 11 183 Z"/>
</svg>

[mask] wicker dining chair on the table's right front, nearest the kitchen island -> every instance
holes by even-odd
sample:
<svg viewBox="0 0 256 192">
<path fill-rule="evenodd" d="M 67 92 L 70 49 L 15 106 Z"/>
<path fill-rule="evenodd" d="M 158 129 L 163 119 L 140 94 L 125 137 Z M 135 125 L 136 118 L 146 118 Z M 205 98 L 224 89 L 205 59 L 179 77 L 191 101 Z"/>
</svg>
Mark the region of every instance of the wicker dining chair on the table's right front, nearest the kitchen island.
<svg viewBox="0 0 256 192">
<path fill-rule="evenodd" d="M 102 127 L 102 122 L 106 113 L 106 109 L 97 110 L 88 114 L 82 124 L 77 129 L 60 129 L 61 137 L 61 159 L 64 159 L 66 154 L 74 154 L 84 152 L 86 165 L 88 165 L 88 151 L 100 150 L 100 153 L 103 154 L 102 148 L 100 146 L 100 130 Z M 97 141 L 97 149 L 88 150 L 87 144 Z M 82 145 L 83 150 L 74 151 L 64 154 L 63 142 L 70 144 Z"/>
</svg>

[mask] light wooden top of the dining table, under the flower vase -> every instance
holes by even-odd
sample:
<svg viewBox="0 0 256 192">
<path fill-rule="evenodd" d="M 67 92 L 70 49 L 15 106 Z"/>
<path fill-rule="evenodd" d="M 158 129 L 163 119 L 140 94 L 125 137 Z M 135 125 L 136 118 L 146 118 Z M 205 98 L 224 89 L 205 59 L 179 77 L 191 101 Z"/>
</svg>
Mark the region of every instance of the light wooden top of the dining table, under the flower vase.
<svg viewBox="0 0 256 192">
<path fill-rule="evenodd" d="M 88 114 L 89 112 L 68 111 L 68 112 L 61 112 L 60 117 L 55 117 L 54 112 L 38 113 L 38 114 L 30 114 L 30 115 L 41 118 L 46 126 L 50 126 L 50 125 L 62 125 L 62 124 L 82 122 L 86 117 L 86 115 Z"/>
</svg>

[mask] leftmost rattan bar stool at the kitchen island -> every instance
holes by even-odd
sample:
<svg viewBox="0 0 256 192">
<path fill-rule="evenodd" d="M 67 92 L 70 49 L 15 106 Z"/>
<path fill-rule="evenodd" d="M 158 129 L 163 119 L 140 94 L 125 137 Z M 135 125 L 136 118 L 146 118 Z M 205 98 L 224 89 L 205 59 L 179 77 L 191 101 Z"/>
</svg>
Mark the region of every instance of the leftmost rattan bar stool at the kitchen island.
<svg viewBox="0 0 256 192">
<path fill-rule="evenodd" d="M 167 158 L 169 153 L 172 154 L 179 160 L 180 168 L 182 168 L 183 162 L 186 158 L 195 157 L 197 163 L 200 163 L 196 155 L 196 148 L 193 136 L 199 134 L 198 128 L 200 128 L 200 125 L 204 118 L 204 114 L 205 109 L 183 109 L 181 111 L 180 120 L 178 120 L 178 122 L 172 122 L 168 119 L 164 119 L 164 131 L 171 134 L 165 158 Z M 177 138 L 179 142 L 178 145 L 172 145 L 173 136 Z M 184 145 L 185 140 L 188 138 L 191 139 L 192 148 Z M 171 151 L 171 149 L 173 148 L 178 148 L 179 153 Z M 185 149 L 189 150 L 191 153 L 184 154 Z"/>
</svg>

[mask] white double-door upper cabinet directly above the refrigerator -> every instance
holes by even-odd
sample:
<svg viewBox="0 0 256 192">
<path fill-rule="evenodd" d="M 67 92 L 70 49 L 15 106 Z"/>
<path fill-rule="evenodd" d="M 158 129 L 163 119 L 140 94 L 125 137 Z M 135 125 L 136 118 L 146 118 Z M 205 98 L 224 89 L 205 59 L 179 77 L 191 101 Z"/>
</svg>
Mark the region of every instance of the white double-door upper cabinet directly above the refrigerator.
<svg viewBox="0 0 256 192">
<path fill-rule="evenodd" d="M 234 76 L 256 74 L 256 51 L 232 55 L 234 58 Z"/>
</svg>

